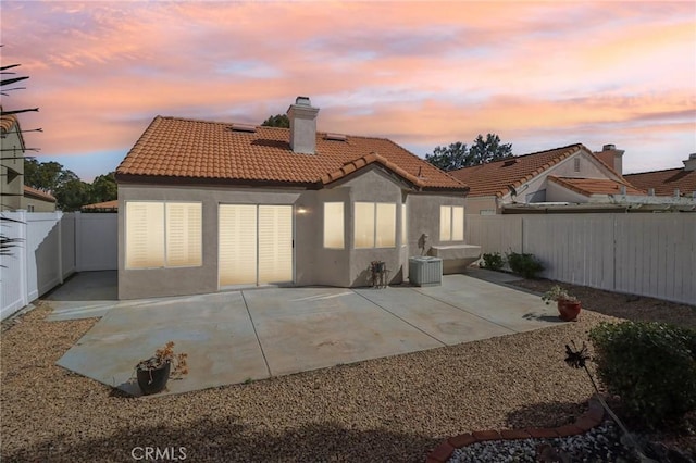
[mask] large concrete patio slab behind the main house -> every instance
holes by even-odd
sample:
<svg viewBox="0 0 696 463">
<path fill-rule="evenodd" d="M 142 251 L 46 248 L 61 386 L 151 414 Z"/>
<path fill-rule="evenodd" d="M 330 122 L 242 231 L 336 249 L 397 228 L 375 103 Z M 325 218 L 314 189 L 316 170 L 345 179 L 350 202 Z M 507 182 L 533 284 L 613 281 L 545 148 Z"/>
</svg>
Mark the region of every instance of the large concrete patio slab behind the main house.
<svg viewBox="0 0 696 463">
<path fill-rule="evenodd" d="M 136 301 L 114 300 L 111 279 L 115 273 L 74 276 L 47 298 L 49 320 L 101 316 L 58 363 L 134 396 L 135 364 L 169 340 L 188 353 L 189 374 L 163 393 L 181 393 L 561 323 L 537 296 L 469 275 L 424 288 L 259 288 Z"/>
</svg>

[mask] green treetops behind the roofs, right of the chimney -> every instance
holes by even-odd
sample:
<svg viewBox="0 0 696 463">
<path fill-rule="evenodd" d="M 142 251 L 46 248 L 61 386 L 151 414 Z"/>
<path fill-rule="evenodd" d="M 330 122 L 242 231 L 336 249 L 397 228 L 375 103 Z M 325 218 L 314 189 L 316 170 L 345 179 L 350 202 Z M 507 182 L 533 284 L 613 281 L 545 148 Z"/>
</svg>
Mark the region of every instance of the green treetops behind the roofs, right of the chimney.
<svg viewBox="0 0 696 463">
<path fill-rule="evenodd" d="M 425 154 L 425 161 L 443 171 L 455 171 L 510 157 L 512 157 L 512 145 L 501 143 L 500 137 L 495 134 L 487 134 L 486 138 L 480 134 L 470 148 L 461 141 L 450 143 L 448 147 L 438 146 L 432 154 Z"/>
</svg>

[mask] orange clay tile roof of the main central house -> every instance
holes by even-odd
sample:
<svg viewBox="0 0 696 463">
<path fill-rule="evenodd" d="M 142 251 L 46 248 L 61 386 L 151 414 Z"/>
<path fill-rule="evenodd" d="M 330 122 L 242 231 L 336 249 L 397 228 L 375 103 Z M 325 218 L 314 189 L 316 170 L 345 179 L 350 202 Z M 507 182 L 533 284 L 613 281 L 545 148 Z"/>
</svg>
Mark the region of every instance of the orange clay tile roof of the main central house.
<svg viewBox="0 0 696 463">
<path fill-rule="evenodd" d="M 121 180 L 195 178 L 244 184 L 321 187 L 369 165 L 381 165 L 424 189 L 467 190 L 462 182 L 386 138 L 316 133 L 315 154 L 295 153 L 289 129 L 157 116 L 116 168 Z"/>
</svg>

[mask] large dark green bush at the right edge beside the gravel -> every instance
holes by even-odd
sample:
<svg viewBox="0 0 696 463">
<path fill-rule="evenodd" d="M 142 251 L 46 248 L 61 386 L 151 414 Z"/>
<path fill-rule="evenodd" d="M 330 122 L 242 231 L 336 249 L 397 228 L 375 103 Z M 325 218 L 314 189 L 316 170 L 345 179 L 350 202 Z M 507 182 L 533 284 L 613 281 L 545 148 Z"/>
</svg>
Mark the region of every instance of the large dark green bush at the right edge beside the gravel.
<svg viewBox="0 0 696 463">
<path fill-rule="evenodd" d="M 696 330 L 662 323 L 602 323 L 589 338 L 599 378 L 635 417 L 657 426 L 696 410 Z"/>
</svg>

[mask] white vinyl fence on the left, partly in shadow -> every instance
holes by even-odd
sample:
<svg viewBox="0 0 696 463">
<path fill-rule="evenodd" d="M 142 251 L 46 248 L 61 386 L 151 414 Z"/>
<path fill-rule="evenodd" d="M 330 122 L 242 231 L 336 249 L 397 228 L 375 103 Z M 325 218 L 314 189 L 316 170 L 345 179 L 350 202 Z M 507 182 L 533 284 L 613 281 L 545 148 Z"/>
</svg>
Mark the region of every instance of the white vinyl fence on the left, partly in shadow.
<svg viewBox="0 0 696 463">
<path fill-rule="evenodd" d="M 74 272 L 117 268 L 117 214 L 2 212 L 2 235 L 18 238 L 0 256 L 0 320 Z"/>
</svg>

